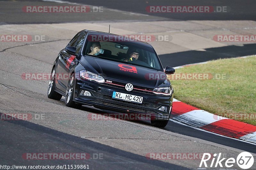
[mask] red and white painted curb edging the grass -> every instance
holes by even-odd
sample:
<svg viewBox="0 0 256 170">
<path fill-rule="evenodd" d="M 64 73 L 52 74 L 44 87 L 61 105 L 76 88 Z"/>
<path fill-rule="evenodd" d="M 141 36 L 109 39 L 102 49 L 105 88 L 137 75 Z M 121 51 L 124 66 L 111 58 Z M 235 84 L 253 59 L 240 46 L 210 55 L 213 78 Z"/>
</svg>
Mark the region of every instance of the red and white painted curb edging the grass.
<svg viewBox="0 0 256 170">
<path fill-rule="evenodd" d="M 239 58 L 245 57 L 250 56 Z M 189 64 L 185 66 L 190 65 L 195 64 Z M 185 66 L 179 66 L 175 69 Z M 212 132 L 224 137 L 235 138 L 256 144 L 256 126 L 233 119 L 228 119 L 222 116 L 213 115 L 209 112 L 190 106 L 176 99 L 173 99 L 172 115 L 170 120 L 194 127 L 196 129 Z"/>
</svg>

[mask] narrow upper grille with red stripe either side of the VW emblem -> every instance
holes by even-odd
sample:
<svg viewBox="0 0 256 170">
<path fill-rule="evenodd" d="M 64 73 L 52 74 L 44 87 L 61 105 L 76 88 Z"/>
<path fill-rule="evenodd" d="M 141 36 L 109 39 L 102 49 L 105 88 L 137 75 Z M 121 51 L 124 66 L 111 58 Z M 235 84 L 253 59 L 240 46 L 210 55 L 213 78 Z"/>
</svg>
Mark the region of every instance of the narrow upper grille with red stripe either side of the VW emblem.
<svg viewBox="0 0 256 170">
<path fill-rule="evenodd" d="M 116 88 L 120 88 L 120 89 L 125 89 L 125 85 L 126 83 L 121 83 L 121 82 L 117 82 L 117 81 L 112 81 L 112 83 L 108 83 L 105 82 L 104 85 L 108 85 L 111 87 L 116 87 Z M 154 94 L 152 91 L 154 89 L 152 88 L 146 88 L 146 87 L 142 87 L 142 86 L 138 86 L 138 85 L 133 85 L 133 90 L 134 92 L 142 92 L 142 93 L 147 93 L 147 94 Z"/>
</svg>

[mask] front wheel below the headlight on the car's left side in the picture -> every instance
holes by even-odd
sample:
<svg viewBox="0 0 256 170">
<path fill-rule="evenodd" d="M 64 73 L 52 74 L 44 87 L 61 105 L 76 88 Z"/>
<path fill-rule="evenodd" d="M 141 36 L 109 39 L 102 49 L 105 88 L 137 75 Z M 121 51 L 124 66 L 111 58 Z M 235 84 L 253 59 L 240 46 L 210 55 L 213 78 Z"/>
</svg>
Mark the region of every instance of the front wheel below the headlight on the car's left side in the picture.
<svg viewBox="0 0 256 170">
<path fill-rule="evenodd" d="M 72 73 L 70 78 L 68 79 L 67 90 L 65 94 L 65 104 L 68 107 L 72 108 L 80 108 L 82 105 L 78 105 L 73 101 L 74 91 L 75 91 L 75 74 Z"/>
</svg>

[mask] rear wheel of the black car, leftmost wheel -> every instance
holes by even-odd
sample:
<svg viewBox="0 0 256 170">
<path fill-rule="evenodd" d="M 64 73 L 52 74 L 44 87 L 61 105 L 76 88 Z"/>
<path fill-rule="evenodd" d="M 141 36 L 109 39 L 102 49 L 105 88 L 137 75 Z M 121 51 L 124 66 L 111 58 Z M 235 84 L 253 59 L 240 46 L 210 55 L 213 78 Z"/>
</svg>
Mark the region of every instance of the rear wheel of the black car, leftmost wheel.
<svg viewBox="0 0 256 170">
<path fill-rule="evenodd" d="M 55 92 L 55 66 L 52 68 L 51 77 L 48 84 L 47 97 L 49 99 L 60 100 L 62 95 Z"/>
</svg>

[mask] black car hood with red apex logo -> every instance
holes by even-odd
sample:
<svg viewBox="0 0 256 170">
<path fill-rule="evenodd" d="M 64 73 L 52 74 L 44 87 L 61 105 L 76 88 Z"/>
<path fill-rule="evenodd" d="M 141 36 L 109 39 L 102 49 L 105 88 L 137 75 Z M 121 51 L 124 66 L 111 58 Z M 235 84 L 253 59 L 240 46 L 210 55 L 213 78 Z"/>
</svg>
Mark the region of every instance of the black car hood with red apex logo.
<svg viewBox="0 0 256 170">
<path fill-rule="evenodd" d="M 86 70 L 101 75 L 105 80 L 131 83 L 148 88 L 167 87 L 170 85 L 169 80 L 166 80 L 165 73 L 162 71 L 92 56 L 83 56 L 80 62 Z"/>
</svg>

